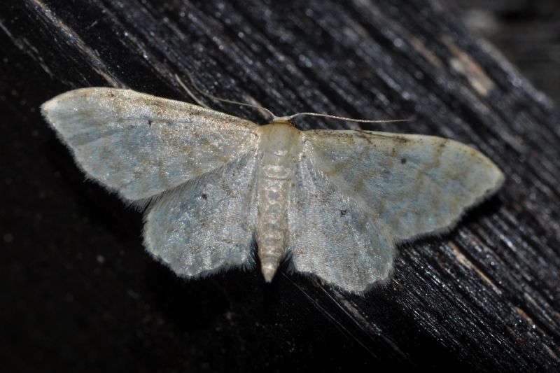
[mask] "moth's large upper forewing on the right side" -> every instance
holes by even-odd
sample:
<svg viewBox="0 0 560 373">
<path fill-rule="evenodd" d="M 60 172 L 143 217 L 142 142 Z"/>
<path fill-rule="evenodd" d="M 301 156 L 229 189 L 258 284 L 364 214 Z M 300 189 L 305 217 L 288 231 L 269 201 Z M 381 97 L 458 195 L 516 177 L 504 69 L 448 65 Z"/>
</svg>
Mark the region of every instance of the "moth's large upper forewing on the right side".
<svg viewBox="0 0 560 373">
<path fill-rule="evenodd" d="M 449 139 L 329 130 L 304 136 L 314 167 L 395 241 L 449 230 L 503 182 L 482 153 Z"/>
</svg>

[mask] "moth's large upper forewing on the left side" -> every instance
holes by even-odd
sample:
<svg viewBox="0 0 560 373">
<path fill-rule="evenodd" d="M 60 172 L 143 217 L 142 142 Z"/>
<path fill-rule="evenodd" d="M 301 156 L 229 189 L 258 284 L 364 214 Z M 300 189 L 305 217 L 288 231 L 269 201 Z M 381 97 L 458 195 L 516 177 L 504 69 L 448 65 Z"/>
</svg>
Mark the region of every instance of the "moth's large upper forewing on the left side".
<svg viewBox="0 0 560 373">
<path fill-rule="evenodd" d="M 80 167 L 132 201 L 238 160 L 258 137 L 247 120 L 132 90 L 73 90 L 42 111 Z"/>
</svg>

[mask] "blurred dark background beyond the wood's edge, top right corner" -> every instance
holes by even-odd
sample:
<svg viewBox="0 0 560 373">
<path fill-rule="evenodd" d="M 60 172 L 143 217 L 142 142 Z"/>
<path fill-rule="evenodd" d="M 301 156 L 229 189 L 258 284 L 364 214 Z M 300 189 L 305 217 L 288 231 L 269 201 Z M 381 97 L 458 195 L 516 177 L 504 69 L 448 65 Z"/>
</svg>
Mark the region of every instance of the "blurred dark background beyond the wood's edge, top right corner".
<svg viewBox="0 0 560 373">
<path fill-rule="evenodd" d="M 560 1 L 442 0 L 475 35 L 503 55 L 560 103 Z"/>
</svg>

